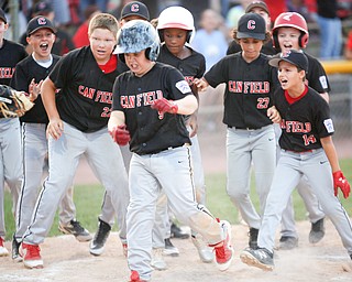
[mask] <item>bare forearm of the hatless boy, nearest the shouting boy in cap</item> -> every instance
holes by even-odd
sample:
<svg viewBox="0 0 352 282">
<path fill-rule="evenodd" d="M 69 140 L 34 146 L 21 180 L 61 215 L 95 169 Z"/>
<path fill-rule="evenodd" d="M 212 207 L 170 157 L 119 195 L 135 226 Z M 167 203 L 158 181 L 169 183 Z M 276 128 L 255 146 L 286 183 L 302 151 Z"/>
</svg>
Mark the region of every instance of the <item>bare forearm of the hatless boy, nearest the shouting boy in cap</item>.
<svg viewBox="0 0 352 282">
<path fill-rule="evenodd" d="M 43 82 L 41 95 L 46 115 L 50 120 L 59 119 L 59 115 L 56 108 L 55 91 L 56 87 L 54 83 L 50 78 L 46 78 Z"/>
</svg>

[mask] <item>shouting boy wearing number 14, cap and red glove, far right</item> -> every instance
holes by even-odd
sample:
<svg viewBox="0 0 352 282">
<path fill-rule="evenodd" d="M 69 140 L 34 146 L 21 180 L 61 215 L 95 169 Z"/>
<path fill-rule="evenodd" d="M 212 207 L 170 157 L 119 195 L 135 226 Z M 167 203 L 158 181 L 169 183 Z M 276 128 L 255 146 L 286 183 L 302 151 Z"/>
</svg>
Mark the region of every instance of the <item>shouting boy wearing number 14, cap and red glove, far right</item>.
<svg viewBox="0 0 352 282">
<path fill-rule="evenodd" d="M 287 51 L 272 58 L 270 64 L 278 67 L 278 80 L 282 85 L 274 95 L 274 105 L 282 117 L 282 154 L 266 199 L 257 239 L 258 248 L 242 251 L 241 260 L 263 270 L 274 269 L 276 228 L 301 175 L 308 178 L 352 259 L 351 223 L 337 197 L 340 188 L 346 198 L 350 184 L 340 170 L 332 142 L 334 129 L 329 105 L 305 83 L 309 70 L 308 59 L 302 52 Z"/>
</svg>

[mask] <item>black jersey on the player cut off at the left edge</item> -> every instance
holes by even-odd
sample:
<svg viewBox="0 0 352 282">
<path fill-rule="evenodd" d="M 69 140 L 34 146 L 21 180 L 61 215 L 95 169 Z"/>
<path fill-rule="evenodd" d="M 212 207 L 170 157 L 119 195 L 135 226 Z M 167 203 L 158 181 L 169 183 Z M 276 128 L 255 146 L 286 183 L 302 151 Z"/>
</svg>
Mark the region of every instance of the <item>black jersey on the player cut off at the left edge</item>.
<svg viewBox="0 0 352 282">
<path fill-rule="evenodd" d="M 26 56 L 24 46 L 3 40 L 0 48 L 0 84 L 10 85 L 15 65 Z"/>
</svg>

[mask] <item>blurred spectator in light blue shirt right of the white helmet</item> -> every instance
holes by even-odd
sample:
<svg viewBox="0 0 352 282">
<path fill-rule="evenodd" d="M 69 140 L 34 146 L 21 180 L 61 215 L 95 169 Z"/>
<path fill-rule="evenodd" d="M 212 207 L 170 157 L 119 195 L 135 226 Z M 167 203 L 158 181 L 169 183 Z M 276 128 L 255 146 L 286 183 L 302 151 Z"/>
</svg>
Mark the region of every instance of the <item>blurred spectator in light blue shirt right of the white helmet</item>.
<svg viewBox="0 0 352 282">
<path fill-rule="evenodd" d="M 196 32 L 191 46 L 206 57 L 207 70 L 227 53 L 226 35 L 219 30 L 221 15 L 211 9 L 201 13 L 200 30 Z"/>
</svg>

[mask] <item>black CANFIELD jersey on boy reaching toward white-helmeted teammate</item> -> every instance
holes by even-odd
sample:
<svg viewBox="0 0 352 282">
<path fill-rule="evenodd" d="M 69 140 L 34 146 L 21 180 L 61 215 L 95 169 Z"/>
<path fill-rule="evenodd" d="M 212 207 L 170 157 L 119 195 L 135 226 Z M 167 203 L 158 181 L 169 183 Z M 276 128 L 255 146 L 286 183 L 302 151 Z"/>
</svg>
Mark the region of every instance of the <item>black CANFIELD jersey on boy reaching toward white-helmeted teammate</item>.
<svg viewBox="0 0 352 282">
<path fill-rule="evenodd" d="M 261 54 L 246 63 L 241 53 L 228 55 L 215 64 L 205 78 L 210 86 L 226 84 L 223 123 L 235 128 L 260 129 L 272 123 L 266 115 L 271 96 L 278 86 L 277 72 Z"/>
</svg>

